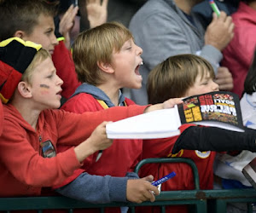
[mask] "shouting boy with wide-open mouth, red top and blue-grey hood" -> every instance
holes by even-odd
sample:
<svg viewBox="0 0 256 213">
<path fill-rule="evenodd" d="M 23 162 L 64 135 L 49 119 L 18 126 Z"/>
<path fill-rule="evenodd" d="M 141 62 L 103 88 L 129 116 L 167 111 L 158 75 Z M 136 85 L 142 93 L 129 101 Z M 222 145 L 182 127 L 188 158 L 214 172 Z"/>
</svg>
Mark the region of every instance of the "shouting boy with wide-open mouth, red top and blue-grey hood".
<svg viewBox="0 0 256 213">
<path fill-rule="evenodd" d="M 121 94 L 120 89 L 139 89 L 142 86 L 142 76 L 139 74 L 142 53 L 143 50 L 134 43 L 131 32 L 116 22 L 80 33 L 73 43 L 73 60 L 82 85 L 62 109 L 83 113 L 102 111 L 119 105 L 134 105 L 133 101 Z M 216 83 L 214 86 L 218 89 Z M 104 150 L 101 158 L 97 158 L 99 153 L 86 158 L 83 169 L 95 175 L 125 176 L 126 172 L 131 172 L 141 159 L 142 145 L 142 140 L 114 140 L 113 146 Z M 151 146 L 155 147 L 153 144 Z M 58 147 L 58 150 L 63 151 L 65 147 Z M 69 194 L 69 190 L 72 192 L 73 185 L 80 182 L 78 178 L 75 179 L 78 176 L 79 172 L 66 180 L 62 187 L 58 186 L 61 187 L 58 192 L 66 195 Z M 176 185 L 175 181 L 172 182 Z M 80 197 L 86 199 L 81 193 Z"/>
</svg>

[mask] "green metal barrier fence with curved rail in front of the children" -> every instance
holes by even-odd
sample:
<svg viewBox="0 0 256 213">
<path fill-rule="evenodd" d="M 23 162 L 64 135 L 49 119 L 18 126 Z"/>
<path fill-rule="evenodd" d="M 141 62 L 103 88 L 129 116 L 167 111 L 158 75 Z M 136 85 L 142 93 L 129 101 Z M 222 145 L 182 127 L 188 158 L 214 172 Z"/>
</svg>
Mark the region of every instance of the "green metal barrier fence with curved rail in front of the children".
<svg viewBox="0 0 256 213">
<path fill-rule="evenodd" d="M 62 196 L 53 197 L 27 197 L 27 198 L 1 198 L 0 210 L 12 212 L 13 210 L 67 210 L 73 213 L 76 209 L 98 208 L 104 212 L 106 207 L 129 206 L 131 213 L 135 212 L 137 206 L 160 206 L 162 213 L 165 213 L 166 205 L 188 204 L 190 212 L 207 213 L 209 206 L 211 213 L 225 213 L 228 203 L 246 203 L 247 212 L 253 212 L 253 203 L 256 203 L 256 190 L 254 189 L 230 189 L 230 190 L 201 190 L 199 186 L 199 176 L 195 163 L 189 158 L 148 158 L 142 160 L 135 169 L 138 172 L 143 164 L 154 163 L 185 163 L 189 164 L 193 170 L 195 178 L 195 189 L 161 192 L 156 197 L 154 203 L 143 202 L 143 204 L 133 203 L 110 203 L 110 204 L 89 204 L 75 199 Z"/>
</svg>

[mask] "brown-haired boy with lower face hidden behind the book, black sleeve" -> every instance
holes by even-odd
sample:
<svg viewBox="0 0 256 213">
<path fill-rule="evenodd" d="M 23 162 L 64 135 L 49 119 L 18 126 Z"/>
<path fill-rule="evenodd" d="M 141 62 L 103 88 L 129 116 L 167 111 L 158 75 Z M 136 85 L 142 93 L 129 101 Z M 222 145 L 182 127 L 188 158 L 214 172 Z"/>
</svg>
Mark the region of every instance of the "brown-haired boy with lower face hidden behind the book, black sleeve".
<svg viewBox="0 0 256 213">
<path fill-rule="evenodd" d="M 148 102 L 157 103 L 171 97 L 185 97 L 218 91 L 218 84 L 214 83 L 213 79 L 212 66 L 200 56 L 176 55 L 169 57 L 155 66 L 148 75 Z M 216 153 L 212 151 L 241 150 L 245 147 L 237 147 L 237 145 L 245 144 L 250 140 L 250 136 L 248 138 L 246 136 L 247 130 L 246 133 L 238 133 L 195 126 L 194 124 L 182 125 L 180 130 L 182 134 L 172 138 L 145 141 L 143 143 L 143 158 L 182 157 L 193 159 L 198 168 L 201 189 L 212 189 L 213 187 L 212 164 Z M 253 131 L 248 133 L 248 135 L 250 134 L 255 135 Z M 236 141 L 237 137 L 241 141 Z M 255 142 L 253 144 L 255 145 Z M 153 146 L 154 148 L 152 148 Z M 172 181 L 162 184 L 163 191 L 195 188 L 192 170 L 188 164 L 146 164 L 141 170 L 141 175 L 152 174 L 154 177 L 160 177 L 166 176 L 172 170 L 177 173 L 177 176 L 173 177 Z M 166 212 L 187 212 L 187 208 L 187 206 L 168 206 Z M 140 209 L 140 212 L 148 212 L 148 209 Z M 156 210 L 156 208 L 153 209 Z M 150 208 L 150 210 L 152 209 Z"/>
</svg>

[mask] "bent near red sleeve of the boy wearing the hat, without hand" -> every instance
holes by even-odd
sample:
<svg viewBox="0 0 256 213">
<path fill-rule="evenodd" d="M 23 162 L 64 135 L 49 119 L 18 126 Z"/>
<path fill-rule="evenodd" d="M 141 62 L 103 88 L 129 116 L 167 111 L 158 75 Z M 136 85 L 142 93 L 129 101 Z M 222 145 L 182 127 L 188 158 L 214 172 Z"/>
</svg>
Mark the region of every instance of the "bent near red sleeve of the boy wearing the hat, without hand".
<svg viewBox="0 0 256 213">
<path fill-rule="evenodd" d="M 43 158 L 38 134 L 29 135 L 28 141 L 26 131 L 14 121 L 5 120 L 4 126 L 0 137 L 0 161 L 6 168 L 5 172 L 20 181 L 20 186 L 50 187 L 61 184 L 81 166 L 73 148 L 57 154 L 55 158 Z"/>
</svg>

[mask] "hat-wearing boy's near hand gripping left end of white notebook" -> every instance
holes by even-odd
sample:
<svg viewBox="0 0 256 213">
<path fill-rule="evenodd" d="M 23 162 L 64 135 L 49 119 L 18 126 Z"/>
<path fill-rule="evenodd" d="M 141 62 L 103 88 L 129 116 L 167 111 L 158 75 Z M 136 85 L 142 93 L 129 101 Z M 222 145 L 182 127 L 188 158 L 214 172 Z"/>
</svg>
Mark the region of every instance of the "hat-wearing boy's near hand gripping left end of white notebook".
<svg viewBox="0 0 256 213">
<path fill-rule="evenodd" d="M 91 133 L 88 140 L 92 142 L 92 146 L 95 147 L 95 151 L 104 150 L 110 147 L 113 143 L 113 140 L 108 139 L 106 133 L 107 121 L 104 121 L 102 124 L 99 124 L 96 129 Z"/>
</svg>

